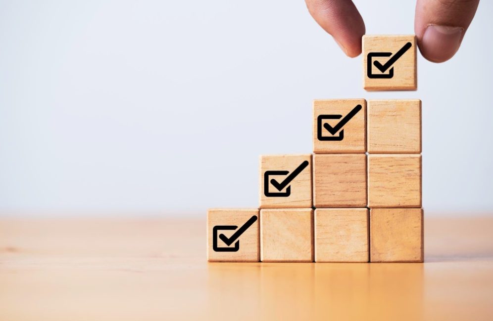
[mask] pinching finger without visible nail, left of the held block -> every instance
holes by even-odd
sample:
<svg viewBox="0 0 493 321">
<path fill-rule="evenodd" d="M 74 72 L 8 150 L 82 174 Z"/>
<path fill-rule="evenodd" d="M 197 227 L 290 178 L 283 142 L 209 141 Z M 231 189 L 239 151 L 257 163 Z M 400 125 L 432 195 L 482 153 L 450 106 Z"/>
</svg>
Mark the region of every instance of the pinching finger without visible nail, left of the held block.
<svg viewBox="0 0 493 321">
<path fill-rule="evenodd" d="M 334 37 L 349 57 L 361 53 L 365 34 L 363 18 L 351 0 L 305 0 L 315 21 Z"/>
</svg>

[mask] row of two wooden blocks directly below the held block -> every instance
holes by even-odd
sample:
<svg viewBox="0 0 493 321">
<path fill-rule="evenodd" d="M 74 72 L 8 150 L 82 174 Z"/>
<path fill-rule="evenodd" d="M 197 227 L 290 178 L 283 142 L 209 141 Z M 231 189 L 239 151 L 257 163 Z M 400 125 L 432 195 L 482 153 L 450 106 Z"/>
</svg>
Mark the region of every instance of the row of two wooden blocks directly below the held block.
<svg viewBox="0 0 493 321">
<path fill-rule="evenodd" d="M 314 100 L 313 152 L 420 154 L 421 100 Z"/>
</svg>

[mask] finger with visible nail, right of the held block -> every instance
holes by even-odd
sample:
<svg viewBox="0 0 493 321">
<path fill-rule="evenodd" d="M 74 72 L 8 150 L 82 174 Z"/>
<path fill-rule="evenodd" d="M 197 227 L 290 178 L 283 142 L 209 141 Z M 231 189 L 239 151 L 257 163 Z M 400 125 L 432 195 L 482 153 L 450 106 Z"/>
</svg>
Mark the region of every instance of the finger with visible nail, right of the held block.
<svg viewBox="0 0 493 321">
<path fill-rule="evenodd" d="M 423 56 L 444 62 L 457 52 L 479 0 L 417 0 L 414 32 Z"/>
</svg>

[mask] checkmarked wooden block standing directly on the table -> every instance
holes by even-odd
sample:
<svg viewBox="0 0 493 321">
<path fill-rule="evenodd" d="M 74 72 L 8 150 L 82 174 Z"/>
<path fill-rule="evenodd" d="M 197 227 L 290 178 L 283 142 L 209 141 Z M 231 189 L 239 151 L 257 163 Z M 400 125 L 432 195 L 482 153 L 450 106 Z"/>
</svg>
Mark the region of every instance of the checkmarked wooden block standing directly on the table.
<svg viewBox="0 0 493 321">
<path fill-rule="evenodd" d="M 209 262 L 258 262 L 260 236 L 258 209 L 209 209 L 207 211 L 207 260 Z"/>
</svg>

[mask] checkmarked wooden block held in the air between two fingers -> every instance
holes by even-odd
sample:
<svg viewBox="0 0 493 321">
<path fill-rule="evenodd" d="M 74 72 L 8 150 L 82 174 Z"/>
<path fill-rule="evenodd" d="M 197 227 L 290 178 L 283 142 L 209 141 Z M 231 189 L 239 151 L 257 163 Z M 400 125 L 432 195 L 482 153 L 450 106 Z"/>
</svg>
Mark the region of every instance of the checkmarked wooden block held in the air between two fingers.
<svg viewBox="0 0 493 321">
<path fill-rule="evenodd" d="M 363 87 L 416 90 L 416 36 L 363 36 Z"/>
</svg>

